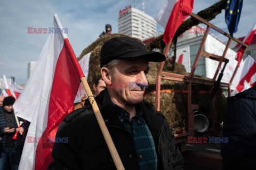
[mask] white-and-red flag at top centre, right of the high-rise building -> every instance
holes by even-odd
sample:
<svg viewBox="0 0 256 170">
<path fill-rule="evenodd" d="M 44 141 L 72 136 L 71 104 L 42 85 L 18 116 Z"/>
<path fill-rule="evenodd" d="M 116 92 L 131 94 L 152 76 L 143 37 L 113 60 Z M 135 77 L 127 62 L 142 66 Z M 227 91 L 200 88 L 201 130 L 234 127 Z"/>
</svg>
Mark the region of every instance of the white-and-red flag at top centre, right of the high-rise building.
<svg viewBox="0 0 256 170">
<path fill-rule="evenodd" d="M 168 44 L 181 25 L 192 13 L 194 0 L 167 0 L 156 17 L 156 21 L 165 29 L 163 41 Z"/>
</svg>

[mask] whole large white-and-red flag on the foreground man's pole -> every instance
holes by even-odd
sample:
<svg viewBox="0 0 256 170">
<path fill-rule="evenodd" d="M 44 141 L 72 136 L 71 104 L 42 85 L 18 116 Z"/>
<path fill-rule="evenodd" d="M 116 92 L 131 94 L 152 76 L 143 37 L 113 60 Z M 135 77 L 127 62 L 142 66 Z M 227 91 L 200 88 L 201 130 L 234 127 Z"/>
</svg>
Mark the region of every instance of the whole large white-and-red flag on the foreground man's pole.
<svg viewBox="0 0 256 170">
<path fill-rule="evenodd" d="M 15 114 L 31 122 L 19 169 L 47 169 L 55 134 L 63 118 L 74 110 L 74 100 L 84 77 L 57 14 L 50 34 L 20 97 Z"/>
</svg>

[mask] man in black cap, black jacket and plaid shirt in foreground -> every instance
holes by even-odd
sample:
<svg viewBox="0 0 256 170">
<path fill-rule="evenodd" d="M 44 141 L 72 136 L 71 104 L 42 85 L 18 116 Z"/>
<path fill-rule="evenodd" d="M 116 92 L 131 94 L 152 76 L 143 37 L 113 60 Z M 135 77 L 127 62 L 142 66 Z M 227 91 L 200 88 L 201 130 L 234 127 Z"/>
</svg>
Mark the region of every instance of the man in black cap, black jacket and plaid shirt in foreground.
<svg viewBox="0 0 256 170">
<path fill-rule="evenodd" d="M 165 117 L 143 100 L 149 61 L 165 61 L 165 56 L 129 37 L 107 41 L 100 54 L 107 88 L 95 101 L 125 169 L 182 169 Z M 54 143 L 49 169 L 115 169 L 89 100 L 65 117 L 56 137 L 68 137 L 68 143 Z"/>
</svg>

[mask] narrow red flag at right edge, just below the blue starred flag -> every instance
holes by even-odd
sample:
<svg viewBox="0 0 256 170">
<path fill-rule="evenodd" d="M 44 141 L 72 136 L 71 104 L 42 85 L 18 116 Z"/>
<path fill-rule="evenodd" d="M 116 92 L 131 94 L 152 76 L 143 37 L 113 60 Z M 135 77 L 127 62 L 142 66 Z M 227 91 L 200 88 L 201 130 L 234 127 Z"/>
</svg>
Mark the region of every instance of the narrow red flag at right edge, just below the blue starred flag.
<svg viewBox="0 0 256 170">
<path fill-rule="evenodd" d="M 255 34 L 255 31 L 256 31 L 256 22 L 254 23 L 252 29 L 249 31 L 249 33 L 247 34 L 247 36 L 244 38 L 244 41 L 243 43 L 247 44 L 247 45 L 250 45 L 251 44 L 251 41 L 252 41 L 252 38 Z M 242 60 L 242 54 L 245 53 L 245 47 L 240 45 L 238 51 L 237 51 L 237 56 L 236 56 L 236 60 L 238 61 L 238 66 Z"/>
</svg>

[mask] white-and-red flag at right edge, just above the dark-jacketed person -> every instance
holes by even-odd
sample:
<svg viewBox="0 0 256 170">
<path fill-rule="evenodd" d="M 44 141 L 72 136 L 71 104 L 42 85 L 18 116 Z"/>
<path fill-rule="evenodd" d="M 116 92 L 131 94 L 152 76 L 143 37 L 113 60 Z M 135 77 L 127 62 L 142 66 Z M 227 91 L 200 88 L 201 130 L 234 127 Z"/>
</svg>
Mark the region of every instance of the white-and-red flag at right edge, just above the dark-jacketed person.
<svg viewBox="0 0 256 170">
<path fill-rule="evenodd" d="M 256 62 L 253 58 L 248 55 L 244 61 L 241 62 L 236 76 L 233 80 L 232 87 L 235 87 L 234 93 L 231 95 L 235 95 L 236 93 L 240 93 L 247 89 L 247 85 L 245 86 L 245 82 L 249 82 L 252 87 L 254 84 L 256 75 Z"/>
</svg>

